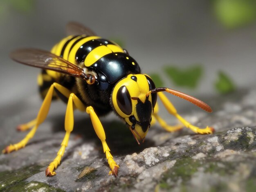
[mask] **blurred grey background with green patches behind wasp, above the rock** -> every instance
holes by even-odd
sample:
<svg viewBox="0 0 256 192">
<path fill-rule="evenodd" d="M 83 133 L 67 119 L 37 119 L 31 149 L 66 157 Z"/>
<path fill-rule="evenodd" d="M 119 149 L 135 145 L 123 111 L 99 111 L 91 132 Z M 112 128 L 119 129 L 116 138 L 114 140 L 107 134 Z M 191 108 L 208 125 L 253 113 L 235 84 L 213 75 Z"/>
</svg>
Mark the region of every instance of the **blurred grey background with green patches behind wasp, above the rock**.
<svg viewBox="0 0 256 192">
<path fill-rule="evenodd" d="M 1 105 L 39 102 L 40 69 L 8 55 L 50 50 L 69 21 L 118 42 L 158 86 L 202 98 L 256 85 L 256 0 L 0 0 Z"/>
</svg>

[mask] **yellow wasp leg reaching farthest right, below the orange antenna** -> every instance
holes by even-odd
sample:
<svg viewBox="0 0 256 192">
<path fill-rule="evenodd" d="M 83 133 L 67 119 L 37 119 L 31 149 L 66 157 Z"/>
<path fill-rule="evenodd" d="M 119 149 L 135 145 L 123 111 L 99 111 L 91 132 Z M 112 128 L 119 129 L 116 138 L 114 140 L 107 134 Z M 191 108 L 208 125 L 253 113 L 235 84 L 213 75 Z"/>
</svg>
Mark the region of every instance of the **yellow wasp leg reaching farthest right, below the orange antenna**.
<svg viewBox="0 0 256 192">
<path fill-rule="evenodd" d="M 199 133 L 199 134 L 210 134 L 213 133 L 213 128 L 212 127 L 206 127 L 204 129 L 200 129 L 199 127 L 196 127 L 194 125 L 191 125 L 191 123 L 189 123 L 188 121 L 186 121 L 184 118 L 182 118 L 182 116 L 180 116 L 177 113 L 177 110 L 175 109 L 175 107 L 173 106 L 173 104 L 168 100 L 168 98 L 162 93 L 162 92 L 158 92 L 157 93 L 159 98 L 161 99 L 162 103 L 164 104 L 164 107 L 168 110 L 168 112 L 170 114 L 172 114 L 173 116 L 175 116 L 178 120 L 180 120 L 180 122 L 187 128 L 191 129 L 193 132 L 195 133 Z"/>
</svg>

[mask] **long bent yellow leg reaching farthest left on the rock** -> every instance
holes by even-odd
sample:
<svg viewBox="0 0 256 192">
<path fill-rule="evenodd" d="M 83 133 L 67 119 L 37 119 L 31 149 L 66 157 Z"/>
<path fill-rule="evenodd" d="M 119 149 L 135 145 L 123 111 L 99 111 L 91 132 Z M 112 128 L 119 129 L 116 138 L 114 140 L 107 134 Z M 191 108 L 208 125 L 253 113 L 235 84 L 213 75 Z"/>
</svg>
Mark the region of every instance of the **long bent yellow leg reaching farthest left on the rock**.
<svg viewBox="0 0 256 192">
<path fill-rule="evenodd" d="M 38 115 L 36 117 L 36 122 L 29 122 L 31 124 L 35 123 L 34 127 L 30 130 L 30 132 L 25 136 L 25 138 L 23 138 L 19 143 L 13 144 L 13 145 L 9 145 L 7 146 L 4 150 L 2 150 L 2 153 L 10 153 L 14 150 L 19 150 L 23 147 L 25 147 L 27 145 L 27 142 L 34 136 L 34 134 L 36 133 L 36 130 L 38 128 L 38 126 L 43 123 L 43 121 L 45 121 L 45 118 L 49 112 L 49 108 L 51 106 L 51 102 L 52 102 L 52 95 L 54 92 L 54 87 L 58 88 L 59 85 L 58 83 L 53 83 L 51 85 L 51 87 L 49 88 L 45 99 L 43 100 L 43 104 L 40 107 L 40 110 L 38 112 Z M 62 87 L 62 92 L 67 95 L 68 93 L 70 94 L 71 92 L 66 89 L 65 87 Z"/>
</svg>

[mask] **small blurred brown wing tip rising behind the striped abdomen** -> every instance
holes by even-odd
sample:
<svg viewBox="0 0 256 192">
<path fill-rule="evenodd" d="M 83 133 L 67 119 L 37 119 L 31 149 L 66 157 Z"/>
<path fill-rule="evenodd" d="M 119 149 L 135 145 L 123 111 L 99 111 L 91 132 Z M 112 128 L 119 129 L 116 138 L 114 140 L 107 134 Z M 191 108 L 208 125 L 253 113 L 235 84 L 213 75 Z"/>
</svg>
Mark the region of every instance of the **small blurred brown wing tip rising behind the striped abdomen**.
<svg viewBox="0 0 256 192">
<path fill-rule="evenodd" d="M 88 27 L 83 26 L 78 22 L 69 22 L 66 25 L 66 32 L 68 35 L 86 35 L 86 36 L 97 36 L 94 31 Z"/>
</svg>

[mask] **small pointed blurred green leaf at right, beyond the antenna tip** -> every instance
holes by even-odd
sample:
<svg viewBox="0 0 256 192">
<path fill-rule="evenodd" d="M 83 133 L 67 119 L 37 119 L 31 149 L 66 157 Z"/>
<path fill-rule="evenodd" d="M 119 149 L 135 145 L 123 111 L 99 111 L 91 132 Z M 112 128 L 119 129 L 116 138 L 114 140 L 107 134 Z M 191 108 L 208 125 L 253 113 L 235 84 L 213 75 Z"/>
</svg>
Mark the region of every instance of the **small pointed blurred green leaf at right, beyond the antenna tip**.
<svg viewBox="0 0 256 192">
<path fill-rule="evenodd" d="M 235 85 L 232 80 L 223 71 L 218 72 L 218 79 L 215 82 L 215 88 L 220 94 L 228 94 L 235 91 Z"/>
</svg>

